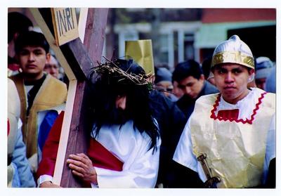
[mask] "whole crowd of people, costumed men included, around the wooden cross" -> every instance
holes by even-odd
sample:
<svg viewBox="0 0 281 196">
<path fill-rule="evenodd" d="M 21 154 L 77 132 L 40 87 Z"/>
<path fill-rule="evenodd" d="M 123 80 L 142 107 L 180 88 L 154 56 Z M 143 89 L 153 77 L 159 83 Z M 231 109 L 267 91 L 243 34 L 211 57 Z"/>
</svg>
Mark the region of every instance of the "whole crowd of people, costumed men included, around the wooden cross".
<svg viewBox="0 0 281 196">
<path fill-rule="evenodd" d="M 8 13 L 7 185 L 59 188 L 67 81 L 32 28 Z M 65 162 L 85 187 L 275 188 L 275 64 L 237 35 L 173 72 L 133 59 L 93 72 L 88 150 Z"/>
</svg>

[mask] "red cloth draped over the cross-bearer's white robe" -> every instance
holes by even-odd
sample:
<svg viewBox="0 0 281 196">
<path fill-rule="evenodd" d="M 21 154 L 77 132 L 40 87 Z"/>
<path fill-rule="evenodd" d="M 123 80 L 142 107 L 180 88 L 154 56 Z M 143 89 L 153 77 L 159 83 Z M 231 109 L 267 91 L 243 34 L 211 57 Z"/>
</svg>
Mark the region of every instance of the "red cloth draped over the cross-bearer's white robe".
<svg viewBox="0 0 281 196">
<path fill-rule="evenodd" d="M 64 113 L 65 112 L 60 112 L 60 115 L 58 115 L 57 119 L 55 119 L 55 123 L 53 124 L 48 138 L 46 139 L 42 152 L 42 160 L 37 170 L 37 178 L 44 174 L 53 176 Z M 93 166 L 113 171 L 122 171 L 124 163 L 103 147 L 103 145 L 98 143 L 98 141 L 94 138 L 91 138 L 90 140 L 87 155 L 93 162 Z"/>
</svg>

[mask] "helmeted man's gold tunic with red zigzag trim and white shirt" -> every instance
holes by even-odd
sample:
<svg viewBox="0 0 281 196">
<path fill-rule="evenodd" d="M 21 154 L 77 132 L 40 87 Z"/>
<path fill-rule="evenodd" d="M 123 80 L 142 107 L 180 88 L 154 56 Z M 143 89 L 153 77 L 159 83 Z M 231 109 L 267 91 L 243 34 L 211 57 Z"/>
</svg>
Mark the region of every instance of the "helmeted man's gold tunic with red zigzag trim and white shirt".
<svg viewBox="0 0 281 196">
<path fill-rule="evenodd" d="M 275 94 L 254 88 L 235 105 L 219 93 L 199 98 L 173 159 L 206 181 L 197 162 L 203 153 L 219 188 L 264 183 L 275 157 Z"/>
</svg>

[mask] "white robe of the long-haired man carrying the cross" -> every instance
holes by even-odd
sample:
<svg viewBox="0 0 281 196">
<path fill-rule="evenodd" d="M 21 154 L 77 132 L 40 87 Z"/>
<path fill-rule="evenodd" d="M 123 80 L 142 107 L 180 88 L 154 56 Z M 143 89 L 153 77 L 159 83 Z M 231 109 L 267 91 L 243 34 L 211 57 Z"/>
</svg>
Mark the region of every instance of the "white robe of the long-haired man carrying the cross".
<svg viewBox="0 0 281 196">
<path fill-rule="evenodd" d="M 95 136 L 94 130 L 91 136 Z M 133 129 L 133 122 L 122 125 L 102 126 L 96 138 L 107 150 L 124 162 L 122 171 L 112 171 L 95 166 L 98 188 L 154 188 L 159 166 L 159 148 L 150 148 L 150 137 Z M 43 175 L 38 183 L 52 181 L 52 176 Z M 91 184 L 93 188 L 96 185 Z"/>
</svg>

